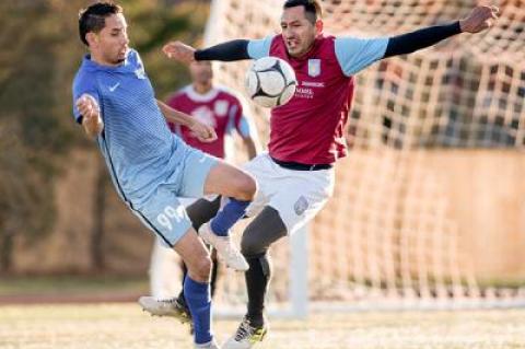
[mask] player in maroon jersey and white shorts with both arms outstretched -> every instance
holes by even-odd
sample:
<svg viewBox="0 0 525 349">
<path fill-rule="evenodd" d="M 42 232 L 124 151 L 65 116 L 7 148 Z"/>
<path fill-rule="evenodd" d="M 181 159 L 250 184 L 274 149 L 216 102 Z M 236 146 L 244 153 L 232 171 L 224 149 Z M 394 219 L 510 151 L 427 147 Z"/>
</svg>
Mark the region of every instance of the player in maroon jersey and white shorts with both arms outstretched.
<svg viewBox="0 0 525 349">
<path fill-rule="evenodd" d="M 179 42 L 164 47 L 170 58 L 186 63 L 279 57 L 292 66 L 299 82 L 292 100 L 271 110 L 268 153 L 244 167 L 259 184 L 247 212 L 255 219 L 241 243 L 249 265 L 245 274 L 248 307 L 236 334 L 223 348 L 250 348 L 267 333 L 264 309 L 271 275 L 268 248 L 311 220 L 332 194 L 332 165 L 347 152 L 343 129 L 353 95 L 353 75 L 377 60 L 410 54 L 456 34 L 487 30 L 497 13 L 495 7 L 479 5 L 467 18 L 451 24 L 363 39 L 324 35 L 317 0 L 287 0 L 281 34 L 198 50 Z"/>
</svg>

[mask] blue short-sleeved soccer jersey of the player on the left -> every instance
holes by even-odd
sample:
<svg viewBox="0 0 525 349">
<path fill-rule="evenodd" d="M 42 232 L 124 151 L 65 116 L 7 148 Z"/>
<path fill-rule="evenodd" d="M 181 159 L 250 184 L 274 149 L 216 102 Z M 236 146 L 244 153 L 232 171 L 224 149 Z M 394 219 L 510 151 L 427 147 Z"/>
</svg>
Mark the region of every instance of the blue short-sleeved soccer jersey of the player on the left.
<svg viewBox="0 0 525 349">
<path fill-rule="evenodd" d="M 73 100 L 84 93 L 101 107 L 104 131 L 97 142 L 120 194 L 128 200 L 147 196 L 152 184 L 166 181 L 166 170 L 180 160 L 184 147 L 166 127 L 138 53 L 130 50 L 118 67 L 84 57 L 73 82 Z M 77 107 L 74 116 L 80 123 Z"/>
</svg>

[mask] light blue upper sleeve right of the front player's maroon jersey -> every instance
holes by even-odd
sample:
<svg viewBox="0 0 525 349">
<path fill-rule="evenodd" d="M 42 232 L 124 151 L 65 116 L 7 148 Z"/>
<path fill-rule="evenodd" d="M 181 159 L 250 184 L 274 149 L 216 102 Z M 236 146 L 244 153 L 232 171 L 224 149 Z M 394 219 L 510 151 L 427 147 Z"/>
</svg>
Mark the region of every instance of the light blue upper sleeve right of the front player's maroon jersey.
<svg viewBox="0 0 525 349">
<path fill-rule="evenodd" d="M 338 37 L 335 40 L 336 57 L 346 75 L 350 77 L 385 56 L 387 37 Z"/>
</svg>

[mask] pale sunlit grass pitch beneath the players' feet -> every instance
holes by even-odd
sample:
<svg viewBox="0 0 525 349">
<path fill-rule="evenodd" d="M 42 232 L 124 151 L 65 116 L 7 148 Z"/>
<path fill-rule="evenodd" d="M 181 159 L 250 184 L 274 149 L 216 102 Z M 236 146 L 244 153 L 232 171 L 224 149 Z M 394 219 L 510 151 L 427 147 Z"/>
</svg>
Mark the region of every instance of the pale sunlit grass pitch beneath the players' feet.
<svg viewBox="0 0 525 349">
<path fill-rule="evenodd" d="M 218 321 L 222 341 L 237 323 Z M 132 303 L 0 306 L 2 349 L 192 348 L 188 330 Z M 525 310 L 350 313 L 272 321 L 259 349 L 525 348 Z"/>
</svg>

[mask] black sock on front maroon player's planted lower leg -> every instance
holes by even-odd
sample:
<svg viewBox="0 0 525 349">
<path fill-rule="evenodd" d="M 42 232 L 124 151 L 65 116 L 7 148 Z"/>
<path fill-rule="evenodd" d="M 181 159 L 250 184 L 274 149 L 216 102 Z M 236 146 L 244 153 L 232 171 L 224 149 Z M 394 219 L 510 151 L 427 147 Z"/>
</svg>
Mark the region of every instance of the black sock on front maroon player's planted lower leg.
<svg viewBox="0 0 525 349">
<path fill-rule="evenodd" d="M 247 317 L 254 327 L 265 324 L 265 298 L 271 277 L 271 265 L 268 255 L 246 257 L 249 269 L 245 272 L 246 288 L 248 290 Z"/>
</svg>

